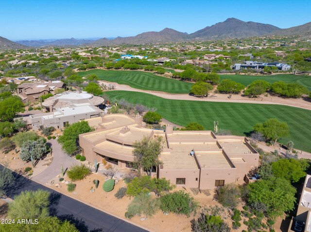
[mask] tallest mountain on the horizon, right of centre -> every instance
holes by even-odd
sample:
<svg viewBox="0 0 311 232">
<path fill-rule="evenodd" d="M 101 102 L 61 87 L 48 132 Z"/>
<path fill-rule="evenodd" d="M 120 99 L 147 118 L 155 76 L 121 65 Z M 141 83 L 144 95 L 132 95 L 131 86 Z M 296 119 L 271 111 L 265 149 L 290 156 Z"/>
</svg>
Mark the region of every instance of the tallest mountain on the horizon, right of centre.
<svg viewBox="0 0 311 232">
<path fill-rule="evenodd" d="M 280 30 L 278 27 L 270 24 L 244 22 L 236 18 L 228 18 L 224 22 L 196 31 L 190 34 L 190 37 L 203 39 L 245 38 L 266 35 L 278 30 Z"/>
</svg>

